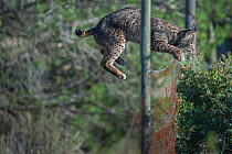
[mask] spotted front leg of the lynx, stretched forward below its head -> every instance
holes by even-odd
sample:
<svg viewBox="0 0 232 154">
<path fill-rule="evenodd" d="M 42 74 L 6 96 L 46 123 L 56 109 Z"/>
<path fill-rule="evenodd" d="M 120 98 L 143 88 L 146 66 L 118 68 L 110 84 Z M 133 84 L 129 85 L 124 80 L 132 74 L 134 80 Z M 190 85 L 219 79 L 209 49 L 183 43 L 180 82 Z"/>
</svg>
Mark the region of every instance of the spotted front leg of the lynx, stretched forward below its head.
<svg viewBox="0 0 232 154">
<path fill-rule="evenodd" d="M 152 42 L 151 51 L 161 52 L 161 53 L 170 53 L 178 61 L 184 59 L 184 55 L 181 50 L 165 42 Z"/>
</svg>

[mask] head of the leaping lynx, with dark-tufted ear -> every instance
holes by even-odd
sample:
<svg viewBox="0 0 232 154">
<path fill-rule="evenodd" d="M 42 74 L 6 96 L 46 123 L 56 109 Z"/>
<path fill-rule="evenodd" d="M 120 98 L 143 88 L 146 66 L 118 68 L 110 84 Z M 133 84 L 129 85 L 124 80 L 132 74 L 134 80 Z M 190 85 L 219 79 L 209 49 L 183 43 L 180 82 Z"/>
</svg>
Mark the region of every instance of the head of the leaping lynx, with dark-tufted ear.
<svg viewBox="0 0 232 154">
<path fill-rule="evenodd" d="M 188 51 L 192 51 L 196 31 L 197 31 L 197 29 L 194 25 L 192 25 L 191 29 L 181 30 L 177 34 L 177 41 L 176 41 L 175 45 L 178 47 L 186 47 L 186 48 L 188 48 Z"/>
</svg>

